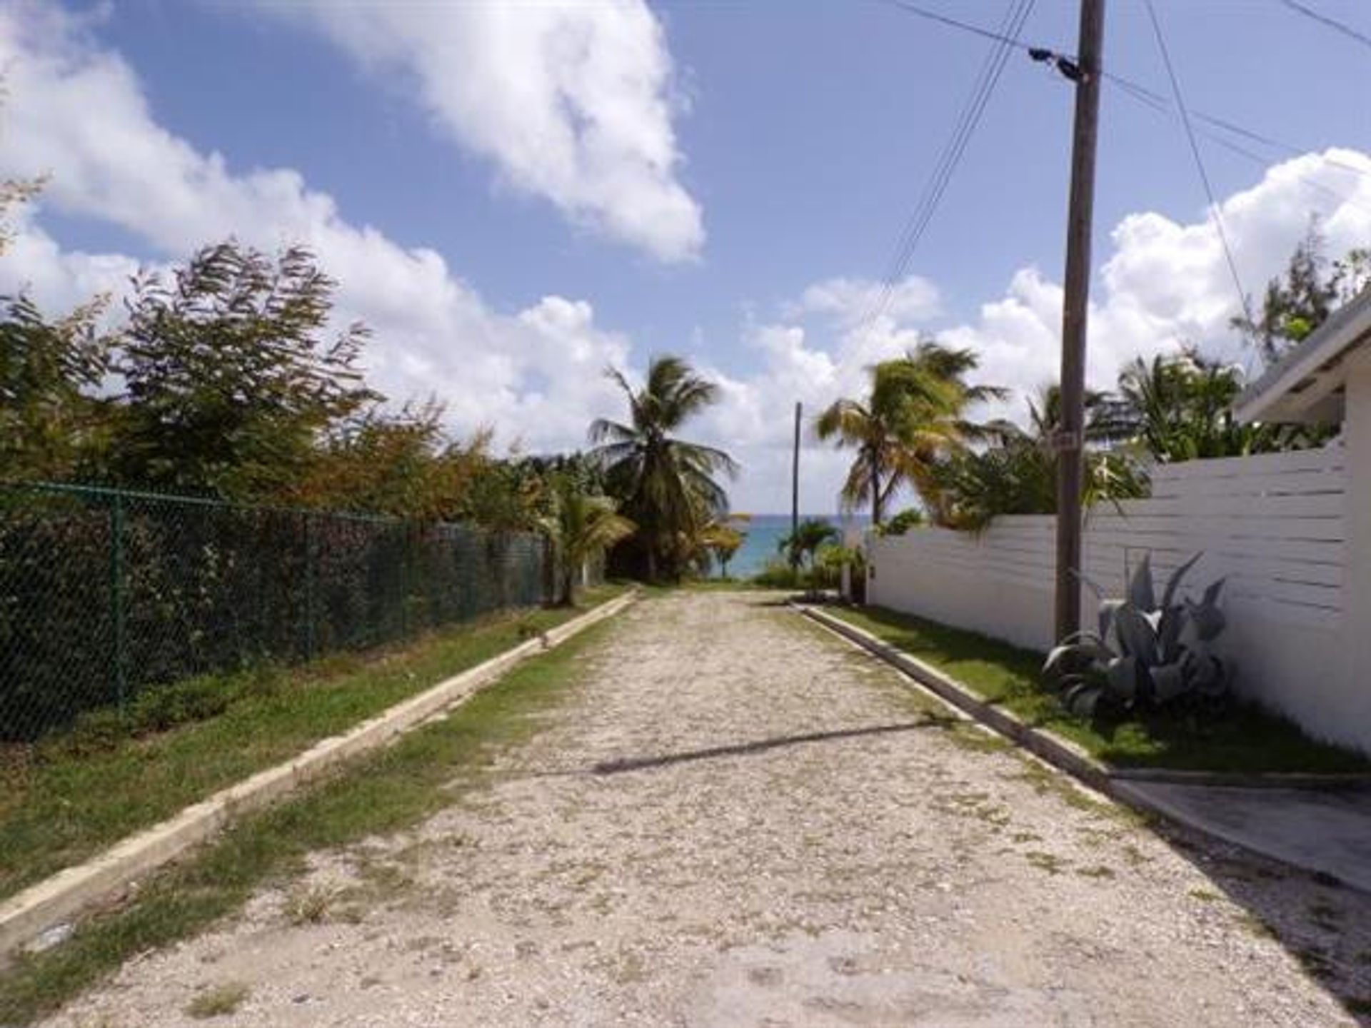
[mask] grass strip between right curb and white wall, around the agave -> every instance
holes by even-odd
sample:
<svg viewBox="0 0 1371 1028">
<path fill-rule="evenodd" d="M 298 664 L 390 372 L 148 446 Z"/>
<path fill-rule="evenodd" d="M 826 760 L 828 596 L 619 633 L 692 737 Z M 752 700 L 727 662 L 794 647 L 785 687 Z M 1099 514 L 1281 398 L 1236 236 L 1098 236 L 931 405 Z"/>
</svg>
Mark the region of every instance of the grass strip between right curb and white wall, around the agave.
<svg viewBox="0 0 1371 1028">
<path fill-rule="evenodd" d="M 979 698 L 1078 743 L 1116 768 L 1235 773 L 1341 773 L 1371 769 L 1366 757 L 1304 735 L 1282 717 L 1234 705 L 1222 718 L 1156 715 L 1115 722 L 1073 717 L 1043 681 L 1042 654 L 883 607 L 829 613 L 956 678 Z"/>
</svg>

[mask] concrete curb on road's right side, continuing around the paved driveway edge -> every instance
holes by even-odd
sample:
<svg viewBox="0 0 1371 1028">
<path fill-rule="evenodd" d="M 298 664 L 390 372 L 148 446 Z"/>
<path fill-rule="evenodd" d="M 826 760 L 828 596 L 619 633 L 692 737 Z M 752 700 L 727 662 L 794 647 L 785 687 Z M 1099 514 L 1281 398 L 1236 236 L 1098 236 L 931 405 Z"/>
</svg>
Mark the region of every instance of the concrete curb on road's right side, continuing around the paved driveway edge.
<svg viewBox="0 0 1371 1028">
<path fill-rule="evenodd" d="M 1289 857 L 1270 853 L 1252 840 L 1238 836 L 1223 828 L 1222 825 L 1215 825 L 1206 820 L 1193 817 L 1189 811 L 1176 807 L 1175 805 L 1153 796 L 1146 791 L 1148 781 L 1158 781 L 1167 784 L 1183 784 L 1183 785 L 1223 785 L 1223 787 L 1250 787 L 1254 780 L 1260 781 L 1260 787 L 1272 788 L 1276 785 L 1289 787 L 1290 780 L 1315 780 L 1318 784 L 1328 785 L 1333 783 L 1346 784 L 1349 781 L 1366 783 L 1367 776 L 1323 776 L 1323 774 L 1263 774 L 1263 776 L 1234 776 L 1209 772 L 1161 772 L 1153 777 L 1146 774 L 1139 774 L 1134 770 L 1120 773 L 1116 769 L 1111 769 L 1094 758 L 1086 755 L 1082 750 L 1068 743 L 1064 739 L 1053 736 L 1036 728 L 1030 728 L 1023 721 L 1001 710 L 995 706 L 986 703 L 978 696 L 972 695 L 965 687 L 957 683 L 954 678 L 943 674 L 942 672 L 931 668 L 923 661 L 910 657 L 902 650 L 890 646 L 888 643 L 877 639 L 869 632 L 864 632 L 856 625 L 849 625 L 840 618 L 835 618 L 832 614 L 827 614 L 814 607 L 808 607 L 802 603 L 795 603 L 791 600 L 791 607 L 799 611 L 802 615 L 810 618 L 812 621 L 823 625 L 824 628 L 843 636 L 849 641 L 860 646 L 862 650 L 869 651 L 875 657 L 886 661 L 891 666 L 903 672 L 912 677 L 916 683 L 927 688 L 934 695 L 946 700 L 950 706 L 957 707 L 969 717 L 975 718 L 987 728 L 998 732 L 999 735 L 1008 737 L 1009 740 L 1017 743 L 1023 748 L 1032 752 L 1035 757 L 1041 758 L 1046 763 L 1067 772 L 1082 784 L 1093 788 L 1109 799 L 1120 803 L 1121 806 L 1131 807 L 1149 817 L 1163 818 L 1172 824 L 1182 825 L 1193 832 L 1204 835 L 1209 839 L 1217 839 L 1228 846 L 1237 846 L 1241 850 L 1256 854 L 1263 859 L 1274 859 L 1281 864 L 1297 866 L 1309 873 L 1318 873 L 1328 880 L 1338 881 L 1349 888 L 1360 888 L 1356 883 L 1339 879 L 1337 874 L 1331 874 L 1326 869 L 1311 866 L 1309 864 L 1293 861 Z M 1308 788 L 1308 785 L 1307 785 Z"/>
</svg>

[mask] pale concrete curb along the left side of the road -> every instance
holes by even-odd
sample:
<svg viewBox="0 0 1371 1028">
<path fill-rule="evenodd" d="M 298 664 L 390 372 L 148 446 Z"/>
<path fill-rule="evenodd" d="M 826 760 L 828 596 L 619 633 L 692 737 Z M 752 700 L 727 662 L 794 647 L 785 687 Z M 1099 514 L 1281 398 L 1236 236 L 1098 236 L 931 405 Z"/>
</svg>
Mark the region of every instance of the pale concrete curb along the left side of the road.
<svg viewBox="0 0 1371 1028">
<path fill-rule="evenodd" d="M 0 955 L 128 888 L 138 877 L 213 837 L 233 818 L 276 802 L 337 763 L 387 746 L 443 710 L 469 699 L 514 665 L 618 614 L 640 595 L 635 589 L 616 596 L 536 639 L 520 643 L 513 650 L 396 703 L 344 735 L 321 739 L 293 759 L 221 790 L 175 817 L 115 843 L 85 864 L 64 868 L 30 885 L 0 903 Z"/>
</svg>

